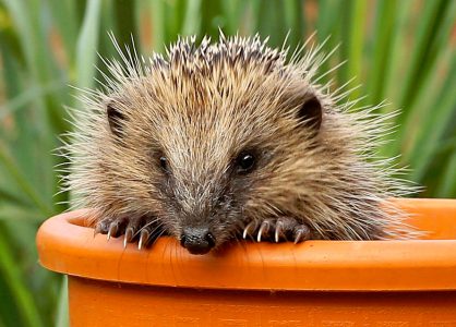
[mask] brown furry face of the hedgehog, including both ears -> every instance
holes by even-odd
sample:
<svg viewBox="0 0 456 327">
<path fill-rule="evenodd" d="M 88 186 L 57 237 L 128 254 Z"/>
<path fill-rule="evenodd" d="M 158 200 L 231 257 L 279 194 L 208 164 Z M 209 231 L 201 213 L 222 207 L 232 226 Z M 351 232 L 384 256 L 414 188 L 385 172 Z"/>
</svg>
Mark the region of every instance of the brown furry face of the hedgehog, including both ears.
<svg viewBox="0 0 456 327">
<path fill-rule="evenodd" d="M 149 203 L 152 216 L 192 253 L 240 234 L 254 219 L 248 208 L 255 189 L 290 155 L 286 143 L 302 143 L 301 134 L 313 138 L 322 122 L 321 104 L 303 81 L 236 70 L 244 77 L 223 83 L 214 73 L 203 81 L 190 75 L 175 82 L 172 74 L 160 83 L 145 80 L 106 105 L 111 153 L 123 158 L 113 161 L 131 156 L 128 170 L 110 165 L 119 185 L 135 181 L 122 196 L 130 207 Z M 287 93 L 293 83 L 301 88 Z M 140 175 L 149 178 L 141 186 Z"/>
</svg>

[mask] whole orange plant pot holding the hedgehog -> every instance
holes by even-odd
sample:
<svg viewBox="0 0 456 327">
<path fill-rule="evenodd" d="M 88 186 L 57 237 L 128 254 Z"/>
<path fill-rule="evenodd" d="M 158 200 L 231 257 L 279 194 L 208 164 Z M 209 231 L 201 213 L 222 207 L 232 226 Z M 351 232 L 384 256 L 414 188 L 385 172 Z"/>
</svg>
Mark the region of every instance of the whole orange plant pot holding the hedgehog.
<svg viewBox="0 0 456 327">
<path fill-rule="evenodd" d="M 398 199 L 412 241 L 243 242 L 194 256 L 47 220 L 39 261 L 69 276 L 71 326 L 455 326 L 456 199 Z"/>
</svg>

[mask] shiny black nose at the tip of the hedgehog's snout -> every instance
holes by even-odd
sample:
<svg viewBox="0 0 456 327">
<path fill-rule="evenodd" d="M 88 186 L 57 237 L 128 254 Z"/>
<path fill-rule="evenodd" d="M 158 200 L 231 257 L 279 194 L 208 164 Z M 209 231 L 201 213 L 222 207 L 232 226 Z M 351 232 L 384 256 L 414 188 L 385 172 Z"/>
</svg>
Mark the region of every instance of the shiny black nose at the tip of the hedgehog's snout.
<svg viewBox="0 0 456 327">
<path fill-rule="evenodd" d="M 207 228 L 185 227 L 180 237 L 180 244 L 191 254 L 206 254 L 215 246 L 215 238 Z"/>
</svg>

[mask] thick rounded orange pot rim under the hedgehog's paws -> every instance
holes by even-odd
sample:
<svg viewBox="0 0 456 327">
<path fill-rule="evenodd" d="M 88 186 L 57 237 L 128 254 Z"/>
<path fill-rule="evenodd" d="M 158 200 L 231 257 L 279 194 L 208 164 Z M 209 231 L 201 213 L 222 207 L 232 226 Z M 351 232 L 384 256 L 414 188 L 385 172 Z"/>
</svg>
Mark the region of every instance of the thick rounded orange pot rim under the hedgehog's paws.
<svg viewBox="0 0 456 327">
<path fill-rule="evenodd" d="M 434 240 L 240 242 L 191 255 L 172 238 L 123 249 L 84 227 L 88 210 L 64 213 L 38 230 L 40 264 L 57 272 L 113 282 L 233 290 L 456 290 L 456 199 L 395 199 Z M 413 223 L 415 225 L 415 223 Z M 443 232 L 442 232 L 443 231 Z M 446 232 L 446 235 L 445 235 Z M 449 237 L 448 237 L 449 235 Z"/>
</svg>

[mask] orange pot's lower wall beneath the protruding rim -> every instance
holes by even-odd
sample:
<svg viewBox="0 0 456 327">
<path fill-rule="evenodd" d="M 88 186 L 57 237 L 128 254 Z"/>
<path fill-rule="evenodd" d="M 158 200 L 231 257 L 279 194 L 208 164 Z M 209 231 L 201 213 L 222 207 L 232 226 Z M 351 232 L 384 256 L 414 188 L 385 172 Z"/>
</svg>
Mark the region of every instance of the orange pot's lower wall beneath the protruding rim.
<svg viewBox="0 0 456 327">
<path fill-rule="evenodd" d="M 235 291 L 70 277 L 70 320 L 86 326 L 455 326 L 456 291 Z"/>
</svg>

